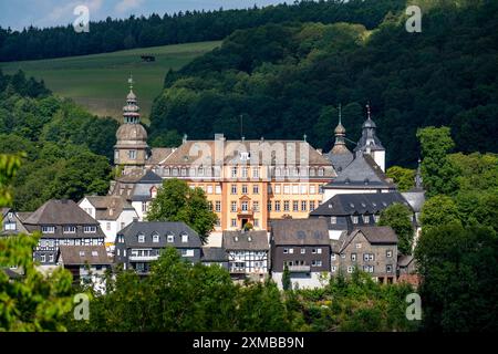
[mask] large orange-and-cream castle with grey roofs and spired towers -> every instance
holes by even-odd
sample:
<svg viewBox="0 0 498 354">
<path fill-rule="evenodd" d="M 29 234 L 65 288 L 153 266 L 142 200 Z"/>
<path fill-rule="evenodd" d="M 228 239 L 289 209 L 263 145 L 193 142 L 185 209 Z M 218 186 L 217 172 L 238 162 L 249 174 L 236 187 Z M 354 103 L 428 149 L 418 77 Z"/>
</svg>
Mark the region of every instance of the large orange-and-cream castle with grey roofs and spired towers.
<svg viewBox="0 0 498 354">
<path fill-rule="evenodd" d="M 384 175 L 385 149 L 369 107 L 362 129 L 353 152 L 345 145 L 341 116 L 335 144 L 328 154 L 312 147 L 305 137 L 227 140 L 222 135 L 207 140 L 185 136 L 178 147 L 151 149 L 132 83 L 114 152 L 114 163 L 122 166 L 123 174 L 112 183 L 110 194 L 125 197 L 138 218 L 145 219 L 162 180 L 179 178 L 206 192 L 218 216 L 214 233 L 239 230 L 248 222 L 256 230 L 267 230 L 273 219 L 308 218 L 335 194 L 395 188 Z"/>
</svg>

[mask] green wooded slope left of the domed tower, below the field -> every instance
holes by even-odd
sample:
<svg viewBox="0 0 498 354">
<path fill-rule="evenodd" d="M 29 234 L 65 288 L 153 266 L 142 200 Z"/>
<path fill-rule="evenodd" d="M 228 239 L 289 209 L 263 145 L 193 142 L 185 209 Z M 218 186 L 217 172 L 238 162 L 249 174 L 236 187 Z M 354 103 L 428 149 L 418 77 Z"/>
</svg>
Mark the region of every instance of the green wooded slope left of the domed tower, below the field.
<svg viewBox="0 0 498 354">
<path fill-rule="evenodd" d="M 25 154 L 13 185 L 17 210 L 32 211 L 51 198 L 105 194 L 117 122 L 53 96 L 21 71 L 0 71 L 0 154 Z"/>
</svg>

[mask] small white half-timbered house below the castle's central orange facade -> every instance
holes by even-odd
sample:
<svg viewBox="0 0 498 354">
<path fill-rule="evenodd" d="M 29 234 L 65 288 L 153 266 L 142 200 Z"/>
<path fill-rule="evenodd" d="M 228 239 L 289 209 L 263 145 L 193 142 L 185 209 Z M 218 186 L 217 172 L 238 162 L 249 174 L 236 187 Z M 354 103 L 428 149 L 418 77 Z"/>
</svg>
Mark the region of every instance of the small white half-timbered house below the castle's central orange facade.
<svg viewBox="0 0 498 354">
<path fill-rule="evenodd" d="M 224 231 L 222 248 L 228 254 L 232 279 L 262 281 L 268 275 L 270 246 L 267 231 Z"/>
</svg>

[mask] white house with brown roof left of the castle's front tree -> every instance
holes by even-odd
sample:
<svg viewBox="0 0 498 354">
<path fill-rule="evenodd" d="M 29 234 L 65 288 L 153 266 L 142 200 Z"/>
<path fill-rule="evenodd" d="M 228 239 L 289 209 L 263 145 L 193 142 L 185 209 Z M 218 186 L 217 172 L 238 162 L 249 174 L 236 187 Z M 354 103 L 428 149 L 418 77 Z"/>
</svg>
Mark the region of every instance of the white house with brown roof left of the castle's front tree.
<svg viewBox="0 0 498 354">
<path fill-rule="evenodd" d="M 86 196 L 77 205 L 101 225 L 107 251 L 114 250 L 117 231 L 138 219 L 138 214 L 123 196 Z"/>
</svg>

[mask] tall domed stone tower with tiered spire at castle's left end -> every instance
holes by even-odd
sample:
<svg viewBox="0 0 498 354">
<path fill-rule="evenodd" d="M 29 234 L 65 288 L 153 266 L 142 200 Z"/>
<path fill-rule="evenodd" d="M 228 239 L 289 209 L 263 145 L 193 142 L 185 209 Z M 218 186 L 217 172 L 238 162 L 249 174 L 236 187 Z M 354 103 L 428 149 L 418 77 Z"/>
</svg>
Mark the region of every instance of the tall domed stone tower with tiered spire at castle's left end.
<svg viewBox="0 0 498 354">
<path fill-rule="evenodd" d="M 133 77 L 128 79 L 129 93 L 123 107 L 123 124 L 116 132 L 114 146 L 114 164 L 123 165 L 125 171 L 134 167 L 143 167 L 147 158 L 147 132 L 141 124 L 139 107 L 133 93 Z"/>
</svg>

